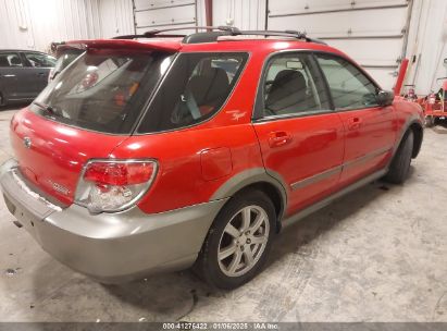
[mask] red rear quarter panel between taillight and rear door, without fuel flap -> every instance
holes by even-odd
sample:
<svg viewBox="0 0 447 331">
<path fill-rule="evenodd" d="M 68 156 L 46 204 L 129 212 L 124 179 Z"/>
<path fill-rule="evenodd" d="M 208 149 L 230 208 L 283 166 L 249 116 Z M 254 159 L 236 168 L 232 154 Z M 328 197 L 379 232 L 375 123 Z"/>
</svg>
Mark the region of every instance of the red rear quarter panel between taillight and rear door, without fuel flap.
<svg viewBox="0 0 447 331">
<path fill-rule="evenodd" d="M 214 181 L 202 176 L 200 157 L 207 149 L 231 150 L 233 169 Z M 262 167 L 259 145 L 251 124 L 226 127 L 195 127 L 163 134 L 133 136 L 113 152 L 119 159 L 150 157 L 160 169 L 150 191 L 139 201 L 145 212 L 161 212 L 206 203 L 233 175 Z"/>
</svg>

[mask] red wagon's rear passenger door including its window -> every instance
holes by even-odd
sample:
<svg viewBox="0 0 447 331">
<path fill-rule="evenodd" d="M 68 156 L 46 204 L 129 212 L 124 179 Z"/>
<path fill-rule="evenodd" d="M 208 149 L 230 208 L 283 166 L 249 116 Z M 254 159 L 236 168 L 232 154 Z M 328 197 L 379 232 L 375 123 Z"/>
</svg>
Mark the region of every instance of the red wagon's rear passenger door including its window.
<svg viewBox="0 0 447 331">
<path fill-rule="evenodd" d="M 271 57 L 261 78 L 253 127 L 264 167 L 288 192 L 286 214 L 328 195 L 338 183 L 344 127 L 310 53 Z"/>
</svg>

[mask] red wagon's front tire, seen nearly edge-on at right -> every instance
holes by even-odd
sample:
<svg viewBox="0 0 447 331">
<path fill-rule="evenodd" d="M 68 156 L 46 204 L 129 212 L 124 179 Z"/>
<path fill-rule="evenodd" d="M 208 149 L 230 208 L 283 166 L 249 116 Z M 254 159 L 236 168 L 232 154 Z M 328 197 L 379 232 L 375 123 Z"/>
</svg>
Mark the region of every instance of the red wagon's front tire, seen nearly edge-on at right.
<svg viewBox="0 0 447 331">
<path fill-rule="evenodd" d="M 402 184 L 410 170 L 413 152 L 414 134 L 409 130 L 397 149 L 385 180 L 394 184 Z"/>
</svg>

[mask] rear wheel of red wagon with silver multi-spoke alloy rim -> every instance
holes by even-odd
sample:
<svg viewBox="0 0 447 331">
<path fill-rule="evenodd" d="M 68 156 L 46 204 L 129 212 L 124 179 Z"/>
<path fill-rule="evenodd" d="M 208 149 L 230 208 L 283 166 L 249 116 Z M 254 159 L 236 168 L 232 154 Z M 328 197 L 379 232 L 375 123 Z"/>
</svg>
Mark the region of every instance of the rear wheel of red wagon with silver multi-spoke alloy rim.
<svg viewBox="0 0 447 331">
<path fill-rule="evenodd" d="M 194 270 L 213 287 L 245 284 L 264 267 L 275 226 L 275 208 L 264 193 L 234 196 L 211 225 Z"/>
</svg>

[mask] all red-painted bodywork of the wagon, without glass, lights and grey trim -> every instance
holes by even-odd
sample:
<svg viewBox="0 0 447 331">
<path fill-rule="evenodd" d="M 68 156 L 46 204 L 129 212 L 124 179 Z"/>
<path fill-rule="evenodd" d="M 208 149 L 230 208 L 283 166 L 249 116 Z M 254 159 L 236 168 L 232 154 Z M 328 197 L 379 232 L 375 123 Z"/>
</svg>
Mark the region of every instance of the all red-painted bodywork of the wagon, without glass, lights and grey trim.
<svg viewBox="0 0 447 331">
<path fill-rule="evenodd" d="M 417 106 L 396 100 L 387 108 L 334 112 L 251 123 L 258 83 L 266 57 L 287 49 L 343 52 L 305 41 L 239 40 L 183 45 L 179 40 L 78 40 L 95 48 L 160 49 L 179 52 L 246 51 L 250 57 L 229 99 L 213 118 L 191 127 L 145 135 L 107 135 L 55 123 L 24 109 L 12 120 L 12 145 L 25 175 L 47 194 L 73 203 L 83 166 L 95 158 L 159 162 L 153 184 L 137 206 L 147 213 L 207 203 L 229 179 L 250 169 L 265 168 L 281 179 L 287 193 L 286 214 L 383 167 L 384 152 L 343 169 L 345 162 L 397 144 Z M 421 118 L 421 115 L 418 115 Z M 356 120 L 357 119 L 357 120 Z M 30 137 L 27 149 L 24 137 Z M 300 186 L 322 172 L 339 169 Z M 69 191 L 54 189 L 58 183 Z M 297 184 L 298 183 L 298 184 Z M 295 185 L 295 189 L 293 186 Z"/>
</svg>

